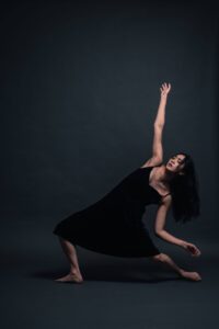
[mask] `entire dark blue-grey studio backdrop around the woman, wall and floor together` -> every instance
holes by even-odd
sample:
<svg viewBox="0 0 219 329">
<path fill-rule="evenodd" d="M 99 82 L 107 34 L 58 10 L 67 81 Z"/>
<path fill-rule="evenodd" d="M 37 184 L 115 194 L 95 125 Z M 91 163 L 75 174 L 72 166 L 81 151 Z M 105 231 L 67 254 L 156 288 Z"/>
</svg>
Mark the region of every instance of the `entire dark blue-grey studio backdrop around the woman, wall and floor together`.
<svg viewBox="0 0 219 329">
<path fill-rule="evenodd" d="M 1 327 L 218 328 L 216 4 L 19 1 L 1 4 L 0 24 Z M 154 242 L 203 281 L 78 248 L 84 284 L 59 285 L 69 264 L 55 225 L 151 156 L 164 81 L 164 160 L 194 157 L 201 198 L 197 220 L 178 226 L 170 215 L 168 230 L 201 257 Z"/>
</svg>

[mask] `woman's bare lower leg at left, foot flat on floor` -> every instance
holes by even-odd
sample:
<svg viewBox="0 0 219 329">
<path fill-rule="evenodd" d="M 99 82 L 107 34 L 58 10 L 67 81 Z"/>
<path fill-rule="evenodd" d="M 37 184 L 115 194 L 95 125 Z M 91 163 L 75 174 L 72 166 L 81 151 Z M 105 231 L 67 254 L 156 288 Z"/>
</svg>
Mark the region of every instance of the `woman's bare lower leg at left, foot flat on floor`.
<svg viewBox="0 0 219 329">
<path fill-rule="evenodd" d="M 65 254 L 67 256 L 68 261 L 70 262 L 70 272 L 66 276 L 56 279 L 55 281 L 77 283 L 83 282 L 83 277 L 79 269 L 78 257 L 74 246 L 68 240 L 62 239 L 61 237 L 59 237 L 59 242 Z"/>
</svg>

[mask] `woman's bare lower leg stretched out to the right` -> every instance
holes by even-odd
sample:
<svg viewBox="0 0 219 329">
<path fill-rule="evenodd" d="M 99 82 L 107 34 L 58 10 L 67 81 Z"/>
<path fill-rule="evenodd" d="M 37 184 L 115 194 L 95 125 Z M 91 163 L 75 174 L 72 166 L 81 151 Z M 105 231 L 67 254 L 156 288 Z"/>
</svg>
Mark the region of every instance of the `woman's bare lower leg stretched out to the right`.
<svg viewBox="0 0 219 329">
<path fill-rule="evenodd" d="M 201 277 L 197 272 L 188 272 L 176 265 L 174 261 L 165 253 L 159 253 L 152 257 L 153 261 L 159 261 L 161 263 L 166 264 L 171 269 L 173 269 L 177 274 L 180 274 L 184 279 L 188 279 L 192 281 L 200 281 Z"/>
</svg>

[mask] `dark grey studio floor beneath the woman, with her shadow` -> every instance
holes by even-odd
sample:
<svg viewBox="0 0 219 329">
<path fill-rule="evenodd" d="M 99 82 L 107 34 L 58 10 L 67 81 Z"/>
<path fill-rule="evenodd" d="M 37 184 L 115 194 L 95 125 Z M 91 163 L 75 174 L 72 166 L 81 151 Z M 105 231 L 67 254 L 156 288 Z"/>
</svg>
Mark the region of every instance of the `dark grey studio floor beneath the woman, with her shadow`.
<svg viewBox="0 0 219 329">
<path fill-rule="evenodd" d="M 53 225 L 5 223 L 1 230 L 1 328 L 218 328 L 218 243 L 200 240 L 194 259 L 165 252 L 201 282 L 182 280 L 149 259 L 124 259 L 78 247 L 82 284 L 58 283 L 69 265 Z"/>
</svg>

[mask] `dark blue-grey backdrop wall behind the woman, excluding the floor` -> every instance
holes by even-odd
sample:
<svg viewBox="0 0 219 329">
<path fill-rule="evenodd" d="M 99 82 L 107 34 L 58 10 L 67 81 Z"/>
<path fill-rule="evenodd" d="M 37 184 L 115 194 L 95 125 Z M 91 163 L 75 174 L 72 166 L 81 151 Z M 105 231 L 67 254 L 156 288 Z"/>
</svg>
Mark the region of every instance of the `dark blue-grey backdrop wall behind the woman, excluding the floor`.
<svg viewBox="0 0 219 329">
<path fill-rule="evenodd" d="M 20 2 L 1 12 L 2 223 L 54 225 L 151 156 L 160 86 L 172 83 L 164 160 L 189 152 L 201 216 L 219 228 L 218 19 L 214 3 Z M 188 227 L 188 226 L 187 226 Z"/>
</svg>

